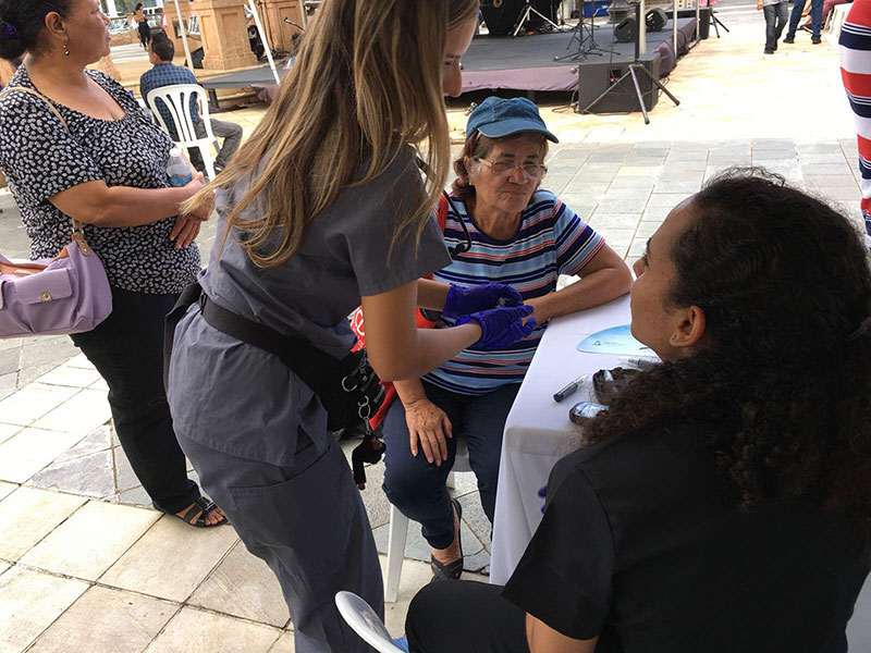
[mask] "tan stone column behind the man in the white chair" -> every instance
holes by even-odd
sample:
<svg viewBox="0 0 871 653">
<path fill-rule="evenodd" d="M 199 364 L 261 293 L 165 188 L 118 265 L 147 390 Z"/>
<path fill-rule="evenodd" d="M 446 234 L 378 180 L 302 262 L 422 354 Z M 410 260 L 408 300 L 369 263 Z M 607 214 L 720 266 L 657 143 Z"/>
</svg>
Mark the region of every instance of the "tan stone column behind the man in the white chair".
<svg viewBox="0 0 871 653">
<path fill-rule="evenodd" d="M 191 12 L 199 16 L 203 66 L 229 70 L 257 65 L 248 45 L 244 0 L 194 0 Z"/>
</svg>

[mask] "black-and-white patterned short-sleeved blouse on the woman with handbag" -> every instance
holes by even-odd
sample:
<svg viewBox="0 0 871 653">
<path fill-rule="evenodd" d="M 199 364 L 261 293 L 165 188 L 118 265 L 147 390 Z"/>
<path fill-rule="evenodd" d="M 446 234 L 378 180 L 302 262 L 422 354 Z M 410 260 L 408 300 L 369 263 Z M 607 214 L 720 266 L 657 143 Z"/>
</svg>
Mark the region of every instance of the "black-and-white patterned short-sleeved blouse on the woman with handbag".
<svg viewBox="0 0 871 653">
<path fill-rule="evenodd" d="M 21 210 L 30 257 L 50 258 L 70 243 L 70 218 L 49 197 L 78 184 L 103 180 L 109 186 L 165 188 L 172 140 L 114 79 L 86 73 L 122 109 L 120 120 L 100 120 L 54 103 L 70 128 L 46 103 L 27 93 L 0 98 L 0 169 Z M 36 88 L 24 65 L 10 86 Z M 100 257 L 109 283 L 136 293 L 181 292 L 199 271 L 195 244 L 175 249 L 170 232 L 175 218 L 142 226 L 85 225 L 85 236 Z"/>
</svg>

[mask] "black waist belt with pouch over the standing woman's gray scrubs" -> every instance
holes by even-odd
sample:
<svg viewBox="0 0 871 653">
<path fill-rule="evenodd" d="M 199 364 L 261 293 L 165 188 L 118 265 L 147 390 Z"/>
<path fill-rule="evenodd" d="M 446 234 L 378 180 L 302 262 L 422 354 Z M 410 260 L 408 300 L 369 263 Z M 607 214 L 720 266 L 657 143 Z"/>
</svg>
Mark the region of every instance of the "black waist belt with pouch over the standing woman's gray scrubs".
<svg viewBox="0 0 871 653">
<path fill-rule="evenodd" d="M 327 410 L 328 428 L 340 431 L 355 427 L 368 430 L 369 418 L 384 401 L 384 386 L 369 365 L 366 349 L 335 358 L 311 343 L 258 324 L 219 306 L 198 283 L 185 288 L 167 317 L 172 333 L 187 308 L 199 303 L 204 319 L 221 333 L 278 356 L 318 395 Z M 174 323 L 171 323 L 174 322 Z"/>
</svg>

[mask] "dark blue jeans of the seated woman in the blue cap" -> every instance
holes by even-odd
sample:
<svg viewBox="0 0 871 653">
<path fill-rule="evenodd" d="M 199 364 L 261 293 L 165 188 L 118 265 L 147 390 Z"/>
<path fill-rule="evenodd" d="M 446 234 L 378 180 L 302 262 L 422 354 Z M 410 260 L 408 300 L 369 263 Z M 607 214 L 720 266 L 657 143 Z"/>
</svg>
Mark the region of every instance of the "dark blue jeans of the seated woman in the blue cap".
<svg viewBox="0 0 871 653">
<path fill-rule="evenodd" d="M 447 549 L 454 540 L 454 510 L 445 481 L 454 464 L 456 439 L 466 438 L 469 465 L 478 477 L 481 506 L 493 522 L 496 505 L 499 457 L 505 419 L 520 389 L 505 385 L 484 395 L 463 395 L 424 382 L 430 402 L 451 420 L 453 438 L 447 439 L 447 460 L 437 467 L 427 461 L 422 451 L 412 456 L 405 408 L 395 401 L 384 418 L 383 490 L 398 510 L 421 525 L 424 538 L 433 549 Z"/>
</svg>

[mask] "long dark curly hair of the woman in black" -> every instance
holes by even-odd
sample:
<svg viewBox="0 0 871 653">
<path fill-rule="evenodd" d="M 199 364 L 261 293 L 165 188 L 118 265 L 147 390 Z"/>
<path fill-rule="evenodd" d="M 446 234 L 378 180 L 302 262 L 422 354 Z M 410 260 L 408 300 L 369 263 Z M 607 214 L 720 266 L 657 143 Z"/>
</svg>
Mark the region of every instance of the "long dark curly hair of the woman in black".
<svg viewBox="0 0 871 653">
<path fill-rule="evenodd" d="M 584 444 L 641 429 L 704 445 L 739 509 L 801 501 L 871 537 L 871 269 L 858 230 L 763 171 L 692 198 L 666 308 L 704 311 L 708 344 L 640 373 Z"/>
</svg>

